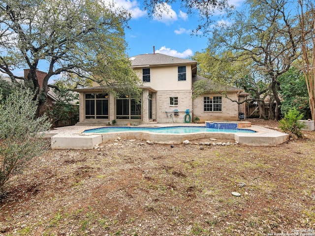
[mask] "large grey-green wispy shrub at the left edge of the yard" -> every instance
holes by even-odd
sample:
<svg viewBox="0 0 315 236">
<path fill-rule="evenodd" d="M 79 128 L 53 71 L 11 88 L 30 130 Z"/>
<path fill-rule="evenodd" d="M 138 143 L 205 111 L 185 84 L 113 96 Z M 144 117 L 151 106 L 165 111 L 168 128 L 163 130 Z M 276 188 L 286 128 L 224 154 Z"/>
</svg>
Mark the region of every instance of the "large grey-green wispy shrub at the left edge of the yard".
<svg viewBox="0 0 315 236">
<path fill-rule="evenodd" d="M 35 119 L 33 95 L 29 89 L 17 87 L 0 104 L 0 189 L 46 147 L 46 141 L 37 135 L 48 130 L 50 123 L 45 116 Z"/>
</svg>

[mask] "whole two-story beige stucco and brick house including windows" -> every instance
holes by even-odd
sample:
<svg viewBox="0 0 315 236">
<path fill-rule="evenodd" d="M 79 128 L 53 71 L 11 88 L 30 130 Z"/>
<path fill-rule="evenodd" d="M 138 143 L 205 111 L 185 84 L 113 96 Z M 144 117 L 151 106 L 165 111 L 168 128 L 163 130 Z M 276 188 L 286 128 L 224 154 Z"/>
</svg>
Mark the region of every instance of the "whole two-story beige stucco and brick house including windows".
<svg viewBox="0 0 315 236">
<path fill-rule="evenodd" d="M 80 93 L 80 122 L 78 124 L 138 125 L 157 123 L 187 123 L 194 117 L 205 120 L 237 120 L 245 112 L 245 103 L 232 100 L 245 99 L 243 90 L 222 87 L 192 99 L 193 83 L 197 76 L 197 61 L 180 59 L 163 54 L 143 54 L 130 58 L 131 67 L 142 84 L 141 102 L 130 97 L 114 97 L 95 84 L 77 89 Z M 209 80 L 209 83 L 213 83 Z"/>
</svg>

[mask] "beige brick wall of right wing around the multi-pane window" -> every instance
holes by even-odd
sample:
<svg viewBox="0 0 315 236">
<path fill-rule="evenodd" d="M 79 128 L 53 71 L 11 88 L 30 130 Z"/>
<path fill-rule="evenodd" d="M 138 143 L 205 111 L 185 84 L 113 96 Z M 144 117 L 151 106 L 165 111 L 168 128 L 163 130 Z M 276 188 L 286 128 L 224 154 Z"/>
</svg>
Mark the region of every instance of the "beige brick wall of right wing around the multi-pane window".
<svg viewBox="0 0 315 236">
<path fill-rule="evenodd" d="M 238 100 L 237 92 L 229 93 L 228 97 L 232 100 Z M 221 112 L 205 112 L 203 97 L 222 97 L 222 111 Z M 200 122 L 214 121 L 214 120 L 238 120 L 238 105 L 236 102 L 232 102 L 225 98 L 220 93 L 206 93 L 194 99 L 193 103 L 193 118 L 199 117 Z"/>
</svg>

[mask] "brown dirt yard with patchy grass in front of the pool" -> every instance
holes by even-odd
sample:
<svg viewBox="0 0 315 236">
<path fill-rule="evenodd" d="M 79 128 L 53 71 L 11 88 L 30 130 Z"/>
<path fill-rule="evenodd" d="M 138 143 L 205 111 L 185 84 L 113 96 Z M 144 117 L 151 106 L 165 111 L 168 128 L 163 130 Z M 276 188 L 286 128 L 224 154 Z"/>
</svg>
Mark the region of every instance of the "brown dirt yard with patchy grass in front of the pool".
<svg viewBox="0 0 315 236">
<path fill-rule="evenodd" d="M 304 134 L 277 147 L 48 150 L 6 185 L 0 235 L 315 236 L 315 132 Z"/>
</svg>

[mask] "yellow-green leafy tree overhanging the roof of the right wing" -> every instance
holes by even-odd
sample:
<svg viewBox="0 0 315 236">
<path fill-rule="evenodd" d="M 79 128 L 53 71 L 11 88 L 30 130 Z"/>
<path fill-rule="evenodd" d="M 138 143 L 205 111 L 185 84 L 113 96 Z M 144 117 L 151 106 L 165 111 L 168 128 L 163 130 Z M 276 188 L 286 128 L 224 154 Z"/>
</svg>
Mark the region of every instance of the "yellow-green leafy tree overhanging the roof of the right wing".
<svg viewBox="0 0 315 236">
<path fill-rule="evenodd" d="M 268 119 L 264 113 L 264 99 L 270 90 L 269 77 L 263 76 L 258 71 L 253 70 L 250 59 L 237 58 L 231 51 L 215 53 L 210 51 L 210 49 L 202 53 L 197 52 L 191 58 L 198 61 L 198 74 L 220 84 L 221 88 L 230 85 L 249 92 L 251 95 L 244 102 L 257 104 L 260 116 Z M 206 81 L 200 80 L 195 82 L 193 96 L 203 94 L 207 89 L 212 91 L 216 89 L 208 87 Z M 224 95 L 229 99 L 227 93 Z M 232 101 L 239 103 L 236 100 Z"/>
</svg>

